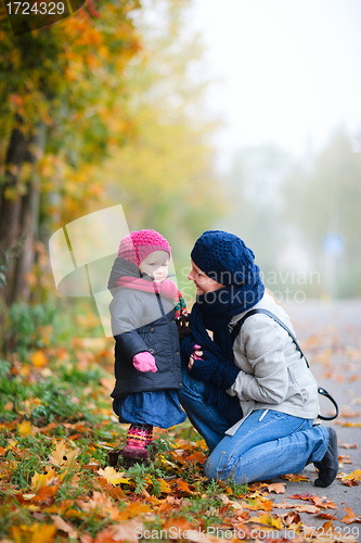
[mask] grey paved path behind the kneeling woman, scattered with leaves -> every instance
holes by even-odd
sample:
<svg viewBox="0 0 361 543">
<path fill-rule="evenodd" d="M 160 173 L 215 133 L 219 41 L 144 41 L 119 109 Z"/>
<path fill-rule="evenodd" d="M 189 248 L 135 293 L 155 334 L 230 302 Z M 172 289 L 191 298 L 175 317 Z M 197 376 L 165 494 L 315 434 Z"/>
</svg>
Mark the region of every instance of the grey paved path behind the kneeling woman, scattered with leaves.
<svg viewBox="0 0 361 543">
<path fill-rule="evenodd" d="M 338 437 L 338 454 L 349 456 L 349 463 L 340 465 L 340 472 L 350 473 L 361 469 L 361 300 L 321 303 L 309 301 L 304 304 L 284 305 L 291 316 L 305 355 L 319 386 L 325 388 L 338 402 L 340 416 L 326 426 L 332 426 Z M 328 401 L 321 402 L 321 412 L 328 415 Z M 357 445 L 349 449 L 348 445 Z M 307 466 L 302 475 L 315 479 L 313 466 Z M 282 479 L 278 480 L 279 482 Z M 284 481 L 283 481 L 284 482 Z M 309 493 L 327 496 L 338 509 L 323 509 L 323 513 L 336 513 L 333 527 L 339 527 L 340 533 L 353 534 L 361 541 L 361 522 L 345 523 L 345 507 L 361 518 L 361 481 L 357 487 L 347 487 L 337 480 L 327 489 L 313 487 L 312 482 L 287 481 L 286 493 L 276 495 L 275 502 L 308 503 L 289 500 L 293 494 Z M 281 509 L 279 509 L 281 512 Z M 311 527 L 322 527 L 327 520 L 315 515 L 301 513 L 301 520 Z"/>
</svg>

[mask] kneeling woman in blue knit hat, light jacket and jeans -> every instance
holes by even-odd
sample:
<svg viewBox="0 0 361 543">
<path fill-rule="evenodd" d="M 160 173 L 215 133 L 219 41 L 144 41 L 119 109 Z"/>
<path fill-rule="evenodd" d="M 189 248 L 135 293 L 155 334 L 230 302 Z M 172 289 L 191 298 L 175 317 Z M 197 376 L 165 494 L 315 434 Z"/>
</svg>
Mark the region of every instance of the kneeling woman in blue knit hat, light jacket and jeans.
<svg viewBox="0 0 361 543">
<path fill-rule="evenodd" d="M 261 313 L 231 337 L 249 310 L 268 310 L 293 331 L 287 314 L 265 292 L 254 257 L 232 233 L 208 230 L 197 239 L 189 275 L 197 301 L 192 334 L 182 341 L 178 394 L 211 452 L 205 466 L 210 479 L 243 484 L 314 463 L 314 484 L 325 488 L 338 470 L 337 437 L 332 428 L 312 426 L 318 387 L 295 342 Z"/>
</svg>

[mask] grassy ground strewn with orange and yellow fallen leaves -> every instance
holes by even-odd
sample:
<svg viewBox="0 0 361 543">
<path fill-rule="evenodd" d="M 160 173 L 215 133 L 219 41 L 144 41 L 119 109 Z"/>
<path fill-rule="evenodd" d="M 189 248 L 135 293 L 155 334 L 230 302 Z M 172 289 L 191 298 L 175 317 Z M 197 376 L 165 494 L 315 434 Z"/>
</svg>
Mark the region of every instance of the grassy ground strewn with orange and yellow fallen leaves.
<svg viewBox="0 0 361 543">
<path fill-rule="evenodd" d="M 287 479 L 302 477 L 248 487 L 207 481 L 207 447 L 189 421 L 155 432 L 150 466 L 111 467 L 108 452 L 127 431 L 108 395 L 113 340 L 101 338 L 89 307 L 75 316 L 69 307 L 15 305 L 10 318 L 11 354 L 0 363 L 1 543 L 358 541 L 333 528 L 338 506 L 312 487 L 275 503 Z M 360 479 L 354 469 L 344 482 Z M 302 513 L 318 514 L 319 529 Z M 345 527 L 360 520 L 344 513 Z"/>
</svg>

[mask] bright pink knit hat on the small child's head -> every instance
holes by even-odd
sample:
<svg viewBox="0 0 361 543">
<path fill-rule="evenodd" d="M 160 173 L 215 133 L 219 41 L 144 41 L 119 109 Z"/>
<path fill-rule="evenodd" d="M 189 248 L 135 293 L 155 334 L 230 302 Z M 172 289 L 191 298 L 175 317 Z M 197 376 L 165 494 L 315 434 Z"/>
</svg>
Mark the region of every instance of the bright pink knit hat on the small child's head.
<svg viewBox="0 0 361 543">
<path fill-rule="evenodd" d="M 154 251 L 166 251 L 171 257 L 170 245 L 166 238 L 154 230 L 131 232 L 120 241 L 118 256 L 139 266 Z"/>
</svg>

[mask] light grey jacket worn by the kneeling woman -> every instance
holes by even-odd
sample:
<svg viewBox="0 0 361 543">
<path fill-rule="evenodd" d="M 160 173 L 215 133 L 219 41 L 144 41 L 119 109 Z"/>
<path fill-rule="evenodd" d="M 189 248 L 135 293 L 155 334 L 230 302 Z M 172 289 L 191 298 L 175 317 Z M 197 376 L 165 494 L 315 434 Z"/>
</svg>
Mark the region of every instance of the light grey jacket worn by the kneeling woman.
<svg viewBox="0 0 361 543">
<path fill-rule="evenodd" d="M 294 332 L 286 312 L 267 292 L 252 308 L 272 312 Z M 230 328 L 246 313 L 235 315 Z M 317 381 L 292 338 L 272 318 L 262 314 L 248 317 L 235 338 L 233 354 L 241 371 L 227 392 L 238 397 L 244 417 L 255 409 L 274 409 L 309 419 L 318 417 Z M 233 435 L 242 420 L 225 433 Z"/>
</svg>

